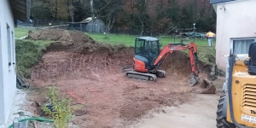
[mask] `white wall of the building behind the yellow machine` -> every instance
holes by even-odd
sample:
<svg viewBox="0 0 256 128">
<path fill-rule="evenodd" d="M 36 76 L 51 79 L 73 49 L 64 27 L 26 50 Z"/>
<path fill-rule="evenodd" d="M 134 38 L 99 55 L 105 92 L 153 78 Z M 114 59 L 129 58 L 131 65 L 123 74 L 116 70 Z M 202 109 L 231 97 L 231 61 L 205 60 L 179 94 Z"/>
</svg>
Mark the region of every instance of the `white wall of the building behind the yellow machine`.
<svg viewBox="0 0 256 128">
<path fill-rule="evenodd" d="M 232 39 L 256 38 L 256 0 L 237 0 L 218 3 L 216 59 L 218 66 L 225 70 Z"/>
</svg>

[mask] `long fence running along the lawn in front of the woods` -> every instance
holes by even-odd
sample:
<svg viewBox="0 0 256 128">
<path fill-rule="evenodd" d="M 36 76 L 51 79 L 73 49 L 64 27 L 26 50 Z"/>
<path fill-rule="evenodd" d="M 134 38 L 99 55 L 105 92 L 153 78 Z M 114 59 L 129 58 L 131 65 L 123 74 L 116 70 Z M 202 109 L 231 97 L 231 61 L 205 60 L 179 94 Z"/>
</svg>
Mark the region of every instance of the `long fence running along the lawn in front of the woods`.
<svg viewBox="0 0 256 128">
<path fill-rule="evenodd" d="M 106 32 L 106 28 L 104 27 L 99 27 L 99 26 L 90 26 L 88 24 L 84 23 L 71 23 L 67 21 L 55 21 L 55 20 L 38 20 L 34 19 L 31 20 L 30 22 L 18 22 L 18 26 L 32 26 L 35 28 L 39 29 L 51 29 L 51 28 L 61 28 L 61 29 L 67 29 L 67 30 L 77 30 L 77 31 L 82 31 L 82 32 L 89 32 L 89 33 L 103 33 Z M 93 25 L 93 24 L 92 24 Z M 119 27 L 113 27 L 110 30 L 110 33 L 113 34 L 126 34 L 126 35 L 137 35 L 137 36 L 150 36 L 150 37 L 156 37 L 156 36 L 166 36 L 166 35 L 172 35 L 173 37 L 176 36 L 177 38 L 194 38 L 191 36 L 187 36 L 184 33 L 191 33 L 186 30 L 184 32 L 183 29 L 181 29 L 180 32 L 164 32 L 163 29 L 161 29 L 160 32 L 158 31 L 152 31 L 145 29 L 143 32 L 138 28 L 138 29 L 132 29 L 132 28 L 119 28 Z M 198 38 L 195 36 L 195 38 Z M 199 37 L 201 39 L 204 39 L 205 37 Z"/>
</svg>

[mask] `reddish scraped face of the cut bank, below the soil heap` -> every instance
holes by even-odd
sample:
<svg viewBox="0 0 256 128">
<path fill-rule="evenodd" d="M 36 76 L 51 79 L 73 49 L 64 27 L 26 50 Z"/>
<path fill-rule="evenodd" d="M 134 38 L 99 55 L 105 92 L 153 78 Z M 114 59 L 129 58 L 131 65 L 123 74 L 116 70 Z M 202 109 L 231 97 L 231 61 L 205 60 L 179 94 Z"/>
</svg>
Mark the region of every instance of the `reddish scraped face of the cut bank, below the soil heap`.
<svg viewBox="0 0 256 128">
<path fill-rule="evenodd" d="M 122 67 L 132 64 L 132 48 L 116 49 L 114 55 L 103 53 L 79 54 L 67 51 L 52 51 L 43 56 L 33 67 L 32 79 L 53 79 L 62 75 L 79 76 L 84 73 L 117 73 Z"/>
</svg>

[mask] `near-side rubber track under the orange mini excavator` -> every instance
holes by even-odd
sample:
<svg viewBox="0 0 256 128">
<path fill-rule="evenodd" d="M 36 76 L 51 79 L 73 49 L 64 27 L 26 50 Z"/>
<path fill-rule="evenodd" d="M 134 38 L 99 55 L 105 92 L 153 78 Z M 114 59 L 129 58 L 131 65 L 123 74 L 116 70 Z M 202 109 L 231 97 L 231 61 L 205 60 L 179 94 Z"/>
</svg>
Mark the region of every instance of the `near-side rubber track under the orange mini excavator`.
<svg viewBox="0 0 256 128">
<path fill-rule="evenodd" d="M 143 80 L 149 80 L 149 81 L 156 81 L 157 79 L 156 75 L 152 73 L 139 73 L 134 70 L 126 72 L 126 76 L 132 79 L 143 79 Z"/>
</svg>

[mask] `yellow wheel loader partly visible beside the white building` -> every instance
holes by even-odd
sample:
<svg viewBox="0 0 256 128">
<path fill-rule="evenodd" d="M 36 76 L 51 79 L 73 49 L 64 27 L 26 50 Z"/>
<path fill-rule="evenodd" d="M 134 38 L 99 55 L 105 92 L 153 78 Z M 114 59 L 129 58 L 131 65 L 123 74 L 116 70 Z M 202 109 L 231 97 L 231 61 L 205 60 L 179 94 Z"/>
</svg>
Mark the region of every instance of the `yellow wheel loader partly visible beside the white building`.
<svg viewBox="0 0 256 128">
<path fill-rule="evenodd" d="M 247 57 L 231 54 L 218 101 L 217 127 L 256 127 L 256 42 L 250 44 Z"/>
</svg>

